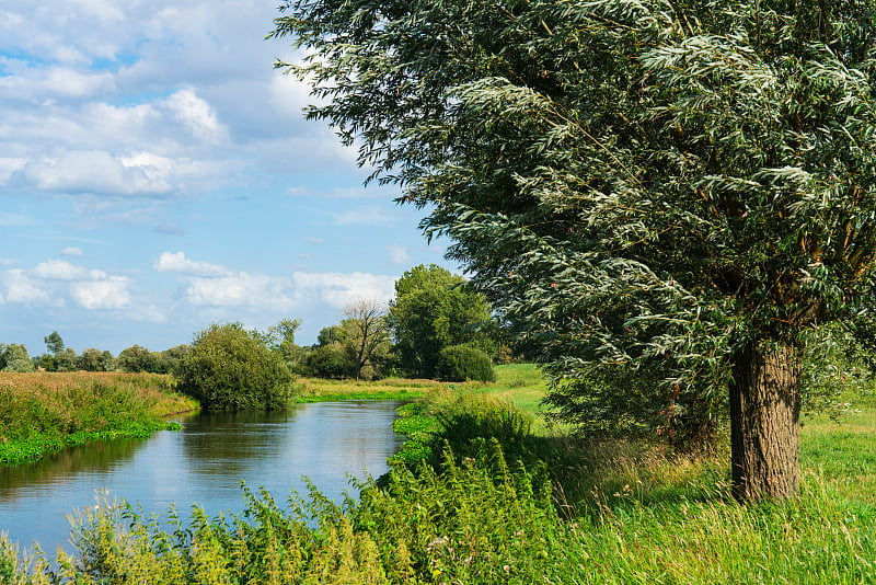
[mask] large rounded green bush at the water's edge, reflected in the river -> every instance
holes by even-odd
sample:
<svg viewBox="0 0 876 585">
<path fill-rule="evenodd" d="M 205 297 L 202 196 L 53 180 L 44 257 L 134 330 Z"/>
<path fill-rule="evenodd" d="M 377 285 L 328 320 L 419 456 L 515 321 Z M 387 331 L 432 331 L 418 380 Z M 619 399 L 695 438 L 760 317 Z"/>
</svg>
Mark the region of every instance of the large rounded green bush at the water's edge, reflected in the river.
<svg viewBox="0 0 876 585">
<path fill-rule="evenodd" d="M 177 389 L 204 410 L 283 410 L 291 398 L 292 375 L 283 358 L 240 323 L 198 333 L 176 377 Z"/>
</svg>

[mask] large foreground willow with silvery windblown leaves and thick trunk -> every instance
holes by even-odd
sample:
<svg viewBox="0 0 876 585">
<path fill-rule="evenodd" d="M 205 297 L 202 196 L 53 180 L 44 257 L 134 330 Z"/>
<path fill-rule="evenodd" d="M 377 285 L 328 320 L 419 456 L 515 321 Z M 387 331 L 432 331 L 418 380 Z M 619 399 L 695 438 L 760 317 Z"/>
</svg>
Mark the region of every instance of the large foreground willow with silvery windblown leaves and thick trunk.
<svg viewBox="0 0 876 585">
<path fill-rule="evenodd" d="M 281 10 L 310 117 L 403 186 L 557 379 L 728 391 L 736 495 L 797 492 L 805 333 L 873 301 L 873 2 Z"/>
</svg>

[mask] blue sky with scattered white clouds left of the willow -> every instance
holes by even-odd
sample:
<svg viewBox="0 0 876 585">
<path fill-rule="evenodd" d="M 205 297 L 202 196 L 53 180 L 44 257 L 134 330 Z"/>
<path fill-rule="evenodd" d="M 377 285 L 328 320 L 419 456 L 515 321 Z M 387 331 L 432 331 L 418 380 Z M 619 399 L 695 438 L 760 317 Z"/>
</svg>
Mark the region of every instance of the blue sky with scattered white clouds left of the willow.
<svg viewBox="0 0 876 585">
<path fill-rule="evenodd" d="M 161 351 L 299 318 L 311 344 L 405 269 L 454 268 L 304 119 L 278 3 L 0 4 L 0 343 Z"/>
</svg>

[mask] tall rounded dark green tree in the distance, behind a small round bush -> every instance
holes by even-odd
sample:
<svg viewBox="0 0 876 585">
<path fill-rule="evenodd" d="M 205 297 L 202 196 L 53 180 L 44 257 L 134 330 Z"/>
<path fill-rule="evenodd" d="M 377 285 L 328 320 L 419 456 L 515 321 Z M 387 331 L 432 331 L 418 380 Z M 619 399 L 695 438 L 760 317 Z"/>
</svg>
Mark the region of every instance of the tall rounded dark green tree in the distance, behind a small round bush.
<svg viewBox="0 0 876 585">
<path fill-rule="evenodd" d="M 489 303 L 464 278 L 435 264 L 415 266 L 396 280 L 387 322 L 410 376 L 433 378 L 438 354 L 449 345 L 495 351 Z"/>
</svg>

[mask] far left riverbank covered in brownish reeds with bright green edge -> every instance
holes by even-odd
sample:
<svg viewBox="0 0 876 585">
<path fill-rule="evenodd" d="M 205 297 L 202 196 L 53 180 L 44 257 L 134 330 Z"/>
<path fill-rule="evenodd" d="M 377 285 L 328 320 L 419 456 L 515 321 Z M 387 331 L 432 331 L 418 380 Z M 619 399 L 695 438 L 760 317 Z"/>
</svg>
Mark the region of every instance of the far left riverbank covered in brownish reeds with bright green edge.
<svg viewBox="0 0 876 585">
<path fill-rule="evenodd" d="M 197 409 L 173 391 L 166 375 L 0 372 L 0 466 L 93 440 L 178 428 L 165 417 Z"/>
</svg>

